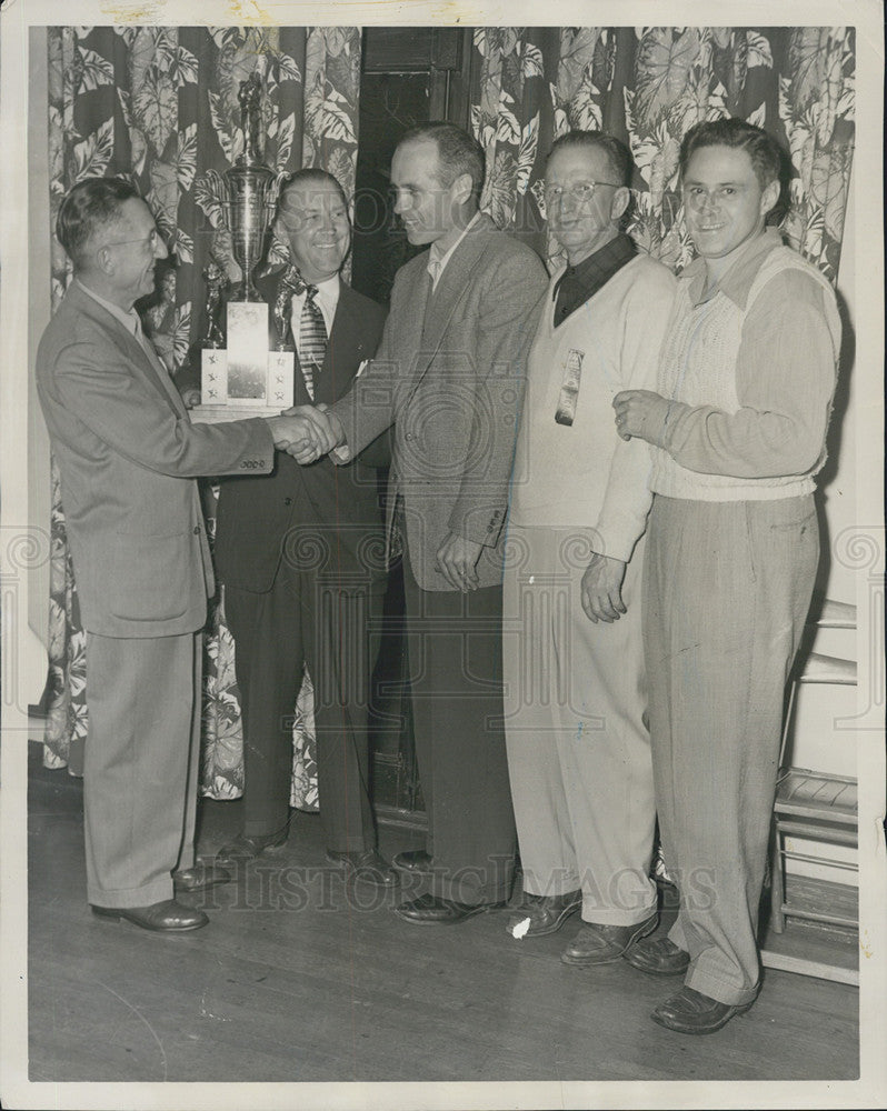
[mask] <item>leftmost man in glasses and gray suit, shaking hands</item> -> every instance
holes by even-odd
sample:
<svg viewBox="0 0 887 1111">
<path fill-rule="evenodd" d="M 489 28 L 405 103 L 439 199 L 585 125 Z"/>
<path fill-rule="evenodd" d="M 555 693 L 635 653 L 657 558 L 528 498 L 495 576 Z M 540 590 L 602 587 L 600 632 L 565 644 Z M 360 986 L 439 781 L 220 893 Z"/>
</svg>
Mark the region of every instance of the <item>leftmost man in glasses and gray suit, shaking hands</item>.
<svg viewBox="0 0 887 1111">
<path fill-rule="evenodd" d="M 213 591 L 196 477 L 266 474 L 275 448 L 327 440 L 296 414 L 191 424 L 133 309 L 167 256 L 127 181 L 71 189 L 57 233 L 74 268 L 37 352 L 87 630 L 87 895 L 147 930 L 206 925 L 175 892 L 230 875 L 195 864 L 200 630 Z"/>
</svg>

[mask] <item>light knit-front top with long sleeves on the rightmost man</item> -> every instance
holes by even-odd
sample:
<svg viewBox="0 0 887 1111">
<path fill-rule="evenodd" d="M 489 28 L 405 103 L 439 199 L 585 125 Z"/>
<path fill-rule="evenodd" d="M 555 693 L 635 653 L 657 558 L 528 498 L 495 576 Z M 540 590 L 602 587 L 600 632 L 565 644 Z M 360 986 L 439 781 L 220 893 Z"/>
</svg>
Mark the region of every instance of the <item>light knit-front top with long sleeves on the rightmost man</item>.
<svg viewBox="0 0 887 1111">
<path fill-rule="evenodd" d="M 654 492 L 700 501 L 810 493 L 825 462 L 840 319 L 828 281 L 770 229 L 701 300 L 705 260 L 678 280 L 658 392 Z"/>
</svg>

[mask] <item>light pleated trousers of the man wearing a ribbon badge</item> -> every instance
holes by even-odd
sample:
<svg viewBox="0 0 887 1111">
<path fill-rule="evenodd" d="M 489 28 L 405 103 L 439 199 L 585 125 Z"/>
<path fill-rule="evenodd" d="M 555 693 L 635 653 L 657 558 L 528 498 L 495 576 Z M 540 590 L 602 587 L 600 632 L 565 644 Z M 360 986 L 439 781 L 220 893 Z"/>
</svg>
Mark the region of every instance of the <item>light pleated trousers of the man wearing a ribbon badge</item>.
<svg viewBox="0 0 887 1111">
<path fill-rule="evenodd" d="M 525 892 L 579 890 L 586 922 L 632 925 L 656 910 L 645 543 L 626 569 L 627 612 L 607 624 L 581 608 L 587 539 L 580 529 L 509 526 L 520 558 L 505 577 L 508 771 Z"/>
</svg>

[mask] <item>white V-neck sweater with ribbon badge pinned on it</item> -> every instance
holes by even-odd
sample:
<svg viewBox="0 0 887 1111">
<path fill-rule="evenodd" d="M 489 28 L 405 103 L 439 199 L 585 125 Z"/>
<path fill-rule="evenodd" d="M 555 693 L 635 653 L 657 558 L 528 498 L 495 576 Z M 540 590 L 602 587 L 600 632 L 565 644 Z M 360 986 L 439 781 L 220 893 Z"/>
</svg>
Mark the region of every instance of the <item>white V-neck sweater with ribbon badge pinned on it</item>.
<svg viewBox="0 0 887 1111">
<path fill-rule="evenodd" d="M 652 496 L 640 440 L 619 439 L 612 399 L 652 390 L 675 278 L 639 254 L 564 323 L 554 326 L 554 274 L 527 367 L 510 517 L 520 526 L 594 529 L 592 548 L 627 561 Z M 570 352 L 581 378 L 572 424 L 555 420 Z M 572 357 L 574 363 L 577 356 Z"/>
</svg>

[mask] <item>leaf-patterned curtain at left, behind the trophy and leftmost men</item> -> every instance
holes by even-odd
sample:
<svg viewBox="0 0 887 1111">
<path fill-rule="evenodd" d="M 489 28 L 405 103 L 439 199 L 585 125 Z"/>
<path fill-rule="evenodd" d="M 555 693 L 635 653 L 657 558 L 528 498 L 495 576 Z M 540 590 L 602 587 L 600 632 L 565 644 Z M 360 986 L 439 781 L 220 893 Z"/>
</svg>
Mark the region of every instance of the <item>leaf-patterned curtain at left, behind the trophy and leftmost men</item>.
<svg viewBox="0 0 887 1111">
<path fill-rule="evenodd" d="M 336 28 L 48 28 L 51 218 L 68 189 L 103 174 L 133 181 L 170 247 L 158 268 L 158 296 L 144 308 L 146 331 L 171 374 L 202 332 L 201 272 L 210 254 L 232 277 L 237 264 L 212 174 L 243 148 L 240 82 L 257 71 L 265 88 L 265 161 L 277 171 L 322 166 L 348 191 L 357 159 L 360 31 Z M 272 243 L 269 261 L 281 260 Z M 53 308 L 70 267 L 52 240 Z M 52 470 L 50 712 L 44 763 L 82 769 L 88 733 L 86 638 L 64 532 L 58 472 Z M 211 494 L 208 491 L 211 510 Z M 211 517 L 210 512 L 210 517 Z M 207 628 L 203 793 L 242 790 L 242 734 L 233 645 L 219 607 Z M 317 805 L 310 737 L 310 687 L 299 699 L 293 804 Z"/>
</svg>

